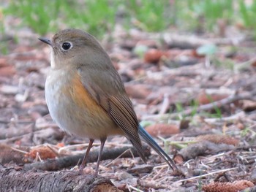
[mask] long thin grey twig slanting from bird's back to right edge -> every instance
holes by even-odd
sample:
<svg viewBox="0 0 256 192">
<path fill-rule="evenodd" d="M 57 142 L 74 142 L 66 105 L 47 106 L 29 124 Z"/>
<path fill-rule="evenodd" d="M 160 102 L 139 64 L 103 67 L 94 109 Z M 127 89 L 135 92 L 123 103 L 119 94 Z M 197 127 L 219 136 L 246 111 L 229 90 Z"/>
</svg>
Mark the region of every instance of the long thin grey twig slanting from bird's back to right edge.
<svg viewBox="0 0 256 192">
<path fill-rule="evenodd" d="M 241 93 L 241 94 L 235 94 L 232 96 L 229 96 L 225 99 L 214 101 L 210 104 L 203 104 L 199 107 L 197 107 L 197 110 L 195 110 L 194 107 L 191 107 L 187 110 L 184 110 L 183 112 L 175 112 L 172 114 L 165 114 L 165 115 L 148 115 L 143 118 L 143 120 L 169 120 L 170 118 L 176 118 L 180 116 L 190 115 L 192 112 L 201 112 L 206 110 L 213 110 L 215 107 L 222 107 L 225 104 L 230 104 L 235 101 L 243 100 L 243 99 L 252 99 L 253 96 L 256 95 L 256 90 L 249 92 L 249 93 Z"/>
</svg>

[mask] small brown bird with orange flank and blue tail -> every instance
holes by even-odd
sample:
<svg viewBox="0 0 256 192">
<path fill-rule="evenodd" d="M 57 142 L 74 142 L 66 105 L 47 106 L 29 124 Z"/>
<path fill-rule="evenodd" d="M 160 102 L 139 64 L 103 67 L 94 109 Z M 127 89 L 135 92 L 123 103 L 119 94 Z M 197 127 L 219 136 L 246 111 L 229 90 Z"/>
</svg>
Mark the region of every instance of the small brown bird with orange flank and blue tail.
<svg viewBox="0 0 256 192">
<path fill-rule="evenodd" d="M 86 166 L 94 139 L 101 142 L 95 175 L 105 141 L 110 135 L 123 135 L 146 164 L 140 137 L 168 166 L 178 170 L 173 160 L 140 126 L 124 83 L 108 53 L 91 34 L 79 29 L 65 29 L 53 38 L 40 37 L 50 45 L 50 72 L 45 82 L 45 99 L 51 117 L 69 134 L 89 138 L 89 146 L 80 165 Z M 140 137 L 139 137 L 140 135 Z"/>
</svg>

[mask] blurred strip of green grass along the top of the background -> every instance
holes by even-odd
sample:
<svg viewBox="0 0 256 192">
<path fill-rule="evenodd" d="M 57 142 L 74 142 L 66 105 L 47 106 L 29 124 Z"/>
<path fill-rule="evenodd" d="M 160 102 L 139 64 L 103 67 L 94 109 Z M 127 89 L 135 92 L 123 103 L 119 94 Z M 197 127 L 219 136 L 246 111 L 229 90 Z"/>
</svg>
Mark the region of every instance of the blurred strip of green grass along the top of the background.
<svg viewBox="0 0 256 192">
<path fill-rule="evenodd" d="M 186 31 L 213 31 L 219 20 L 225 20 L 227 24 L 243 23 L 244 27 L 254 31 L 256 37 L 256 1 L 10 0 L 4 14 L 21 18 L 23 24 L 38 34 L 73 27 L 99 37 L 113 29 L 120 10 L 127 28 L 136 26 L 144 31 L 165 31 L 175 26 Z"/>
</svg>

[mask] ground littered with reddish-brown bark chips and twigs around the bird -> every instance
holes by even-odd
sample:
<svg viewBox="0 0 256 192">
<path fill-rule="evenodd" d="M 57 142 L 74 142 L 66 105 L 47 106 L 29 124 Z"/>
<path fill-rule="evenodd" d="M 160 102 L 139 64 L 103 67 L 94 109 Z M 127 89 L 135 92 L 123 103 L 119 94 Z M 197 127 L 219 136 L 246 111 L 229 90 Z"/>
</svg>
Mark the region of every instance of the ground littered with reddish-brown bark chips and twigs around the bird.
<svg viewBox="0 0 256 192">
<path fill-rule="evenodd" d="M 86 138 L 64 134 L 48 114 L 44 87 L 50 48 L 37 38 L 26 28 L 2 37 L 8 47 L 6 55 L 0 54 L 0 163 L 5 167 L 22 169 L 83 154 L 88 145 Z M 101 42 L 141 124 L 183 174 L 173 173 L 152 150 L 147 165 L 125 150 L 130 158 L 106 158 L 100 176 L 124 191 L 253 190 L 256 46 L 251 36 L 116 29 Z M 212 45 L 216 50 L 208 53 Z M 199 54 L 198 47 L 206 53 Z M 127 139 L 111 137 L 105 150 L 127 146 L 132 146 Z M 98 149 L 99 141 L 92 150 Z M 55 171 L 77 169 L 76 164 Z M 86 172 L 95 166 L 88 164 Z"/>
</svg>

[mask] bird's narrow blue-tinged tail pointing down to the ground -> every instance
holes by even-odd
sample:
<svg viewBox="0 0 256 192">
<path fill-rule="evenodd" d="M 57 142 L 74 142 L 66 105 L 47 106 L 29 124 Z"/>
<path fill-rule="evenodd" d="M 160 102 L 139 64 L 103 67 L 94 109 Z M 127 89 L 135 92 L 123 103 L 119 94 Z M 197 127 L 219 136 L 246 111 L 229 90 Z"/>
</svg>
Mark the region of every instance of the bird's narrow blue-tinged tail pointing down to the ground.
<svg viewBox="0 0 256 192">
<path fill-rule="evenodd" d="M 150 147 L 152 147 L 161 158 L 165 160 L 165 162 L 168 164 L 168 166 L 170 166 L 171 169 L 178 170 L 176 164 L 174 164 L 173 160 L 169 157 L 169 155 L 167 155 L 165 151 L 162 150 L 161 147 L 159 147 L 157 142 L 154 141 L 154 139 L 150 136 L 150 134 L 147 133 L 147 131 L 142 126 L 139 125 L 138 131 L 140 137 L 142 137 L 146 141 L 146 143 Z"/>
</svg>

